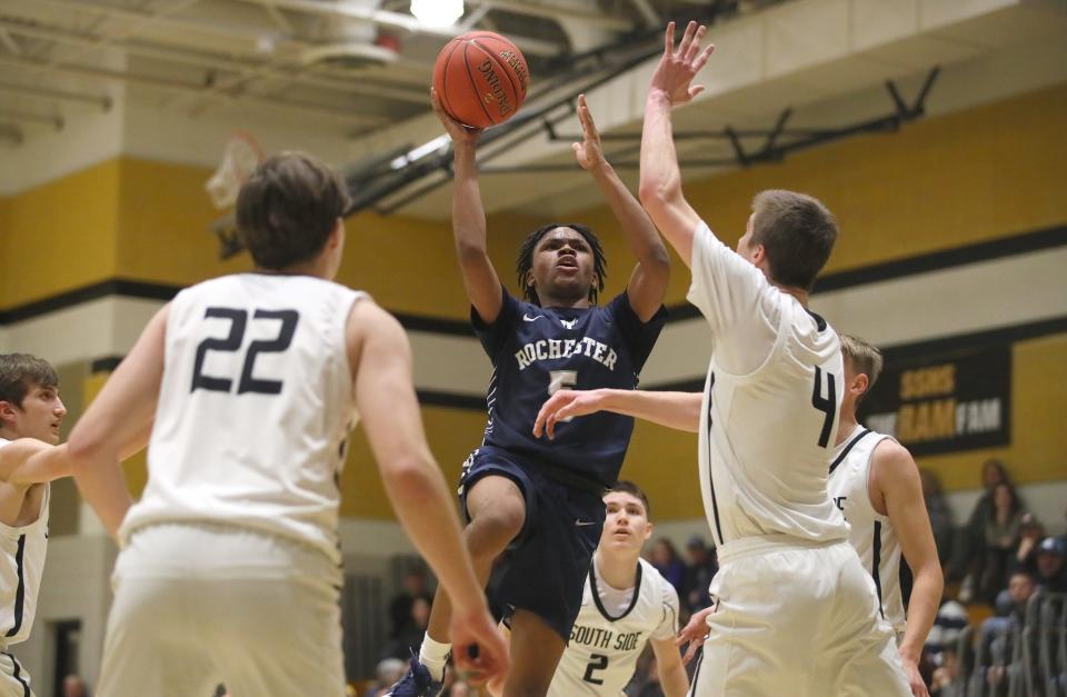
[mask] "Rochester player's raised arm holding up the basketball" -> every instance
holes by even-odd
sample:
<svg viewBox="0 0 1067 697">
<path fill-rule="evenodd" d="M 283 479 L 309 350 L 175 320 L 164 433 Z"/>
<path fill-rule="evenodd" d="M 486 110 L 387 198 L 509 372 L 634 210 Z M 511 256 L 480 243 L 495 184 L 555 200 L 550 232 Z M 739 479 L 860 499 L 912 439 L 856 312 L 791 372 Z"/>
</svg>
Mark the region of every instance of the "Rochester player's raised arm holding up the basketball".
<svg viewBox="0 0 1067 697">
<path fill-rule="evenodd" d="M 430 90 L 433 113 L 452 139 L 455 181 L 452 182 L 452 235 L 456 239 L 456 257 L 463 276 L 467 297 L 487 325 L 496 321 L 503 305 L 500 278 L 489 260 L 486 243 L 486 211 L 481 205 L 478 187 L 478 162 L 475 150 L 480 130 L 470 129 L 452 119 L 441 107 L 440 97 Z"/>
</svg>

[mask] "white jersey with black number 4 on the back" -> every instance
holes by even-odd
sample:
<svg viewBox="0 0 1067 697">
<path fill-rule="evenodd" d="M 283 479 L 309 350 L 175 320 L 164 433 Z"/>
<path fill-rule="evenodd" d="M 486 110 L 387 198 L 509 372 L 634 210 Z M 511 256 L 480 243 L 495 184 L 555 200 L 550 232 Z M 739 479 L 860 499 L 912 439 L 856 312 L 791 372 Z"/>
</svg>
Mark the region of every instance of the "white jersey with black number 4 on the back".
<svg viewBox="0 0 1067 697">
<path fill-rule="evenodd" d="M 714 341 L 699 461 L 716 544 L 761 535 L 845 539 L 848 527 L 826 488 L 844 388 L 837 333 L 704 222 L 691 265 L 688 299 Z"/>
</svg>

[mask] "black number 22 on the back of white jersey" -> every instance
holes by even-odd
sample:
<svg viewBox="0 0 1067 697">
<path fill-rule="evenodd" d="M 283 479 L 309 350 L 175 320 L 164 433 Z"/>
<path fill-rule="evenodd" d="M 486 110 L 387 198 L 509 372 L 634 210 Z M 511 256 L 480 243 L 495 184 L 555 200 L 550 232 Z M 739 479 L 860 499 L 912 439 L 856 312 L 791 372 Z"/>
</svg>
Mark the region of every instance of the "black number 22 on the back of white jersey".
<svg viewBox="0 0 1067 697">
<path fill-rule="evenodd" d="M 197 360 L 192 368 L 192 389 L 206 389 L 216 392 L 229 392 L 233 387 L 233 380 L 229 378 L 217 378 L 203 374 L 203 362 L 208 357 L 208 351 L 237 352 L 245 340 L 245 330 L 248 328 L 248 311 L 235 308 L 209 307 L 203 313 L 205 318 L 215 317 L 230 321 L 230 333 L 225 339 L 209 338 L 197 346 Z M 260 320 L 280 320 L 281 326 L 278 329 L 278 336 L 273 339 L 258 339 L 248 345 L 248 351 L 245 354 L 245 361 L 241 367 L 241 379 L 237 386 L 237 394 L 258 392 L 260 395 L 281 394 L 281 380 L 263 380 L 252 377 L 256 367 L 256 357 L 260 354 L 278 354 L 285 351 L 292 343 L 292 335 L 297 330 L 297 320 L 300 315 L 296 310 L 256 310 L 252 313 L 252 321 Z"/>
</svg>

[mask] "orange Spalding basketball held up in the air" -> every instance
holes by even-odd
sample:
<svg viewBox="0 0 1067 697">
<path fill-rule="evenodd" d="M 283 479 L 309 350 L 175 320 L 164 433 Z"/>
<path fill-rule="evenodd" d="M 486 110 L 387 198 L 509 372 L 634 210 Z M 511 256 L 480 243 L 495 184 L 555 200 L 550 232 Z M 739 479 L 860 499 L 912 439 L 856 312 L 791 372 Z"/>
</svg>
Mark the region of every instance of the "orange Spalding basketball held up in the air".
<svg viewBox="0 0 1067 697">
<path fill-rule="evenodd" d="M 450 117 L 472 128 L 503 123 L 529 84 L 526 58 L 508 39 L 471 31 L 445 44 L 433 64 L 433 89 Z"/>
</svg>

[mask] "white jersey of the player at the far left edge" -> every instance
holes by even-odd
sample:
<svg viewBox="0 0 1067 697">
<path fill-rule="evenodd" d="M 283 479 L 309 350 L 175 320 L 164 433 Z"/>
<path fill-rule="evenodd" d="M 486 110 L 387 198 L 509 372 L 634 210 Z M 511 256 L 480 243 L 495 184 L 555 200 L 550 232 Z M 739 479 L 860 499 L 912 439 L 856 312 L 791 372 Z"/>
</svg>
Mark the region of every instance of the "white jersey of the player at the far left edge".
<svg viewBox="0 0 1067 697">
<path fill-rule="evenodd" d="M 10 441 L 0 438 L 0 448 Z M 26 641 L 33 628 L 37 614 L 37 594 L 44 572 L 44 552 L 48 550 L 48 506 L 51 486 L 43 486 L 41 511 L 37 520 L 20 528 L 0 522 L 0 645 Z"/>
</svg>

